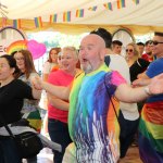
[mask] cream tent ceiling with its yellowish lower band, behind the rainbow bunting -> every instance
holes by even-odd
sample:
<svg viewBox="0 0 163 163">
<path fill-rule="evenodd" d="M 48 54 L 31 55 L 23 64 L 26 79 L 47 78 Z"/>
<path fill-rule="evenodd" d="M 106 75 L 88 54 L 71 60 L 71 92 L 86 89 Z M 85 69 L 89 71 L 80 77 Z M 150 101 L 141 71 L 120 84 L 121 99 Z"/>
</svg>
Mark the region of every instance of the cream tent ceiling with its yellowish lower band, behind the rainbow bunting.
<svg viewBox="0 0 163 163">
<path fill-rule="evenodd" d="M 125 27 L 134 34 L 163 32 L 163 0 L 125 0 L 125 8 L 117 9 L 117 0 L 1 0 L 8 7 L 8 22 L 21 18 L 23 30 L 58 30 L 62 33 L 87 33 L 98 27 L 114 32 Z M 113 11 L 103 4 L 112 3 Z M 88 8 L 97 7 L 96 11 Z M 76 17 L 76 10 L 84 9 L 84 17 Z M 71 11 L 71 22 L 63 22 L 63 13 Z M 50 15 L 58 14 L 57 23 L 49 23 Z M 1 15 L 0 15 L 1 16 Z M 35 27 L 34 17 L 41 16 L 42 28 Z M 1 23 L 0 23 L 1 25 Z M 2 25 L 1 25 L 2 26 Z"/>
</svg>

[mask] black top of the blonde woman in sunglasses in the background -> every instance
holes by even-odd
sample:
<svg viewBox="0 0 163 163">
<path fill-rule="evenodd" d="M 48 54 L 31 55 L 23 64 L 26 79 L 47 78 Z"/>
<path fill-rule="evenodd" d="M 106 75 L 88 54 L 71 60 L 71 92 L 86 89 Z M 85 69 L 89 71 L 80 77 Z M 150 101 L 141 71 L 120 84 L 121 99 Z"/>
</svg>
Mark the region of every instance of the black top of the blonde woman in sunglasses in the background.
<svg viewBox="0 0 163 163">
<path fill-rule="evenodd" d="M 130 73 L 130 82 L 134 82 L 137 79 L 138 74 L 141 74 L 146 71 L 148 65 L 150 64 L 149 61 L 146 61 L 143 59 L 138 59 L 130 67 L 129 67 L 129 73 Z"/>
</svg>

